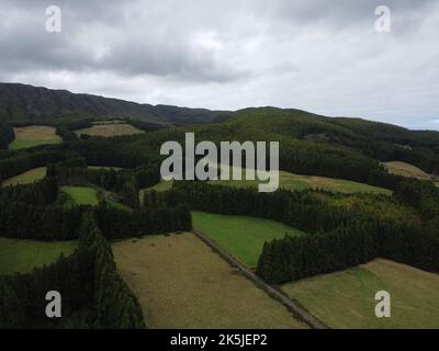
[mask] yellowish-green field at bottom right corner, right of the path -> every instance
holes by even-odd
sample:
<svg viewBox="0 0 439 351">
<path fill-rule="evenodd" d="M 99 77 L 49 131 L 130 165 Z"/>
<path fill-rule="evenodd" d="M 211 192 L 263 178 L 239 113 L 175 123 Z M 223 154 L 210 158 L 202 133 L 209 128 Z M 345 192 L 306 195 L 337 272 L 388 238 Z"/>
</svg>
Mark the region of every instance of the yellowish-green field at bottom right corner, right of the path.
<svg viewBox="0 0 439 351">
<path fill-rule="evenodd" d="M 439 275 L 374 260 L 282 290 L 331 328 L 439 328 Z M 391 318 L 376 318 L 375 293 L 391 294 Z"/>
</svg>

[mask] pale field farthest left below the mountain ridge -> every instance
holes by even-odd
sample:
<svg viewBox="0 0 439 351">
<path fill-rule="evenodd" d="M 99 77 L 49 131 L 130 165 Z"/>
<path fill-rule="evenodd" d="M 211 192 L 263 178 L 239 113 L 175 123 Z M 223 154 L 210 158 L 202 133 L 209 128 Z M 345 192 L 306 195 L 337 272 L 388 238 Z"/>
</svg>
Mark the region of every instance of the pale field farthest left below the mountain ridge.
<svg viewBox="0 0 439 351">
<path fill-rule="evenodd" d="M 14 128 L 15 139 L 9 145 L 10 149 L 23 149 L 37 145 L 58 144 L 61 138 L 56 135 L 54 127 L 31 125 Z"/>
</svg>

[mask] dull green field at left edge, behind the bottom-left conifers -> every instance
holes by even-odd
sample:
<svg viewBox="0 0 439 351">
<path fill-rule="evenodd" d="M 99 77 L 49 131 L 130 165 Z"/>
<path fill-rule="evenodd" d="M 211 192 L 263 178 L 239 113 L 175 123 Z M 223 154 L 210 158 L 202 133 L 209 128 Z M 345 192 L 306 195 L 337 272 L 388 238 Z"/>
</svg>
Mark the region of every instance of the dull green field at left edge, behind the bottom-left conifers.
<svg viewBox="0 0 439 351">
<path fill-rule="evenodd" d="M 35 241 L 0 238 L 0 275 L 30 272 L 55 262 L 59 254 L 72 253 L 77 241 Z"/>
</svg>

